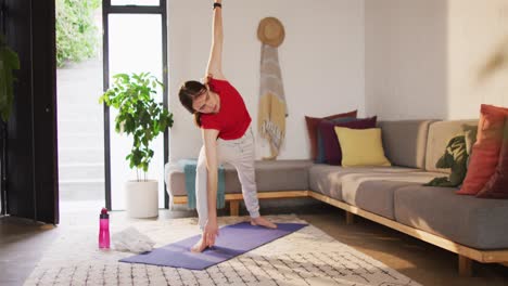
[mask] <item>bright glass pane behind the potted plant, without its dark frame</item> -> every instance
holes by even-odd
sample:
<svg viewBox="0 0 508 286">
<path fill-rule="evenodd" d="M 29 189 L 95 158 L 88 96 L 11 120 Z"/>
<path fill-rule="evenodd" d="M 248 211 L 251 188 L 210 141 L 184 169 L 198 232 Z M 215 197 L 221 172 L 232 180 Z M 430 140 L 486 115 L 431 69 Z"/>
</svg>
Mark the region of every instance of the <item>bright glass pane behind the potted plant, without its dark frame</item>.
<svg viewBox="0 0 508 286">
<path fill-rule="evenodd" d="M 110 24 L 110 82 L 116 74 L 149 72 L 162 78 L 162 18 L 158 14 L 112 14 Z M 110 83 L 110 84 L 111 84 Z M 162 102 L 162 90 L 156 95 Z M 115 132 L 117 110 L 110 108 L 111 138 L 111 196 L 114 210 L 125 209 L 124 184 L 136 180 L 136 170 L 129 169 L 125 157 L 130 153 L 132 138 Z M 147 179 L 158 181 L 158 206 L 164 207 L 164 135 L 160 134 L 151 146 L 154 156 Z M 142 176 L 142 172 L 141 172 Z"/>
</svg>

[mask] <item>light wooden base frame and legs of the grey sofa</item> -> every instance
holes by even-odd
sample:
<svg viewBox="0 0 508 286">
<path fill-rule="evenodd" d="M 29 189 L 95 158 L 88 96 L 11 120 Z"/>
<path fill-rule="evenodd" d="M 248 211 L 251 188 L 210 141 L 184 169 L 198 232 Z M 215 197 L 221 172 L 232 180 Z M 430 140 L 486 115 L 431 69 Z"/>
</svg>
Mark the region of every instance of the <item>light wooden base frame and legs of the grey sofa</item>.
<svg viewBox="0 0 508 286">
<path fill-rule="evenodd" d="M 508 250 L 479 250 L 475 248 L 467 247 L 441 236 L 414 229 L 411 226 L 398 223 L 391 219 L 378 216 L 376 213 L 363 210 L 358 207 L 347 205 L 344 202 L 330 198 L 322 194 L 313 191 L 282 191 L 282 192 L 263 192 L 258 193 L 259 199 L 266 198 L 295 198 L 295 197 L 313 197 L 320 202 L 327 203 L 334 207 L 341 208 L 346 211 L 346 223 L 351 224 L 354 222 L 354 216 L 360 216 L 368 220 L 383 224 L 396 231 L 403 232 L 410 236 L 414 236 L 423 242 L 433 244 L 452 252 L 458 255 L 458 271 L 461 276 L 472 275 L 472 260 L 481 263 L 501 263 L 508 266 Z M 243 199 L 242 194 L 226 194 L 226 202 L 229 202 L 230 214 L 239 214 L 240 200 Z M 173 198 L 174 204 L 187 204 L 187 196 L 175 196 Z"/>
</svg>

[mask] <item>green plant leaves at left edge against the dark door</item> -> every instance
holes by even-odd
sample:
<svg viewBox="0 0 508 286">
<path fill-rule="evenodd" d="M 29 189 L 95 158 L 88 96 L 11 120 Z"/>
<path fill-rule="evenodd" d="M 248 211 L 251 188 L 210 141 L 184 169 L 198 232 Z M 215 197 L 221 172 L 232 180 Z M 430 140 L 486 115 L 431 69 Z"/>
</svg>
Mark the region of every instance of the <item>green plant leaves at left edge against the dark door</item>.
<svg viewBox="0 0 508 286">
<path fill-rule="evenodd" d="M 20 58 L 0 35 L 0 115 L 3 122 L 9 120 L 14 101 L 15 69 L 20 69 Z"/>
</svg>

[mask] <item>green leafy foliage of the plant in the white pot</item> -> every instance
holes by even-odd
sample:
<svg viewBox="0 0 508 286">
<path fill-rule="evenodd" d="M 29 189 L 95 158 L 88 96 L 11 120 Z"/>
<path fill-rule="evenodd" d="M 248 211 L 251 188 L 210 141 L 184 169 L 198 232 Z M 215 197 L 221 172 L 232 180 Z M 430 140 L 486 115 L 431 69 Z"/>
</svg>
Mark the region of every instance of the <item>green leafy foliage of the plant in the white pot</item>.
<svg viewBox="0 0 508 286">
<path fill-rule="evenodd" d="M 164 84 L 149 73 L 118 74 L 113 76 L 113 86 L 99 99 L 110 107 L 118 109 L 115 130 L 132 135 L 132 148 L 127 155 L 131 169 L 144 172 L 144 179 L 153 157 L 150 143 L 166 128 L 173 127 L 173 114 L 162 103 L 156 103 L 153 94 Z"/>
</svg>

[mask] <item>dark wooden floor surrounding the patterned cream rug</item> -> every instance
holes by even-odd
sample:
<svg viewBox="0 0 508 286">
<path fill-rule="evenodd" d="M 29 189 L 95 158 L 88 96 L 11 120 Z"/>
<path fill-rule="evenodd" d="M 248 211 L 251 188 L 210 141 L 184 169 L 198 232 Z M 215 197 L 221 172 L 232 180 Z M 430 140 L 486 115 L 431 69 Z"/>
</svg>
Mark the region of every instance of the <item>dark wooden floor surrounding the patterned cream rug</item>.
<svg viewBox="0 0 508 286">
<path fill-rule="evenodd" d="M 297 200 L 297 199 L 295 199 Z M 307 199 L 308 200 L 308 199 Z M 307 202 L 308 203 L 308 202 Z M 277 202 L 262 202 L 262 213 L 296 213 L 300 218 L 327 232 L 334 238 L 369 255 L 422 285 L 508 285 L 508 268 L 500 264 L 474 263 L 473 277 L 457 273 L 457 256 L 369 220 L 355 218 L 345 223 L 344 211 L 310 202 L 303 206 L 280 206 Z M 62 212 L 62 223 L 38 225 L 13 218 L 0 219 L 0 285 L 22 285 L 35 268 L 43 250 L 66 231 L 66 225 L 97 224 L 97 210 L 75 209 Z M 219 211 L 226 214 L 225 211 Z M 240 207 L 240 214 L 246 214 Z M 158 220 L 195 216 L 185 207 L 161 210 Z M 125 212 L 112 212 L 112 219 L 125 219 Z"/>
</svg>

